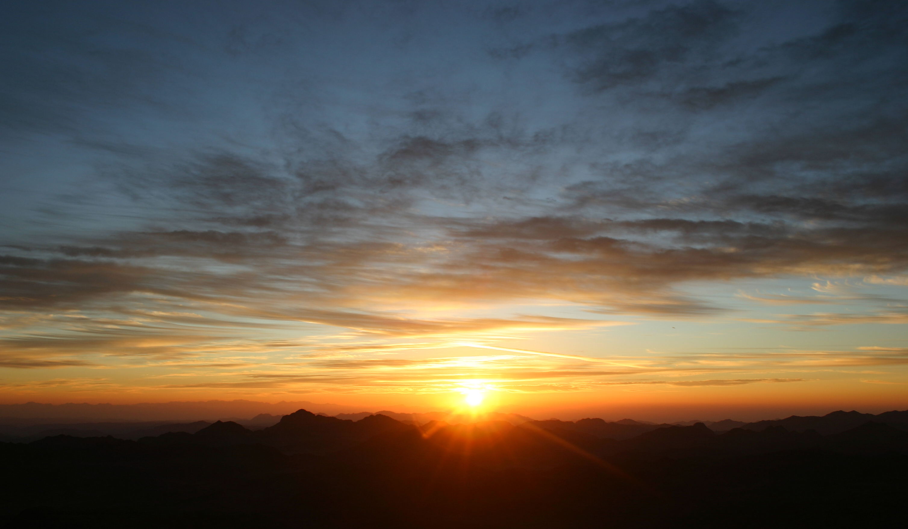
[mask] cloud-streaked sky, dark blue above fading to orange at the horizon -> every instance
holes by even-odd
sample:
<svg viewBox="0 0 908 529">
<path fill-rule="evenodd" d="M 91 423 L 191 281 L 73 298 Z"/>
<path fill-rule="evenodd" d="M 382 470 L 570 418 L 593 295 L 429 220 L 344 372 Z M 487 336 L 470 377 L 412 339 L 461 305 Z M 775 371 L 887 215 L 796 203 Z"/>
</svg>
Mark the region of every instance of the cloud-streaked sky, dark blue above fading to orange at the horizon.
<svg viewBox="0 0 908 529">
<path fill-rule="evenodd" d="M 908 407 L 903 2 L 5 11 L 4 403 Z"/>
</svg>

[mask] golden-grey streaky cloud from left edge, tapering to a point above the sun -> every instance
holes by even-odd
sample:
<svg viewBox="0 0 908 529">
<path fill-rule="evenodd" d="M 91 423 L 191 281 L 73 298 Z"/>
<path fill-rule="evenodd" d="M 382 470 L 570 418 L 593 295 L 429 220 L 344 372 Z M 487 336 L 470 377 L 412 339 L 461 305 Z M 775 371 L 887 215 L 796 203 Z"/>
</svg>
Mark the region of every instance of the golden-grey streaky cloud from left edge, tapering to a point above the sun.
<svg viewBox="0 0 908 529">
<path fill-rule="evenodd" d="M 238 367 L 262 365 L 262 355 L 280 358 L 326 358 L 350 354 L 374 354 L 418 349 L 452 348 L 462 344 L 457 337 L 496 336 L 500 333 L 526 333 L 557 329 L 596 328 L 623 325 L 624 322 L 595 319 L 523 316 L 505 318 L 457 318 L 424 320 L 391 318 L 377 314 L 311 311 L 310 314 L 258 314 L 254 309 L 232 309 L 238 317 L 254 315 L 288 324 L 305 321 L 318 325 L 350 328 L 360 337 L 411 338 L 440 336 L 445 341 L 418 344 L 319 344 L 305 339 L 252 339 L 250 329 L 267 328 L 260 324 L 233 325 L 230 320 L 206 318 L 199 314 L 174 311 L 130 310 L 130 319 L 98 318 L 94 314 L 71 313 L 69 317 L 44 318 L 41 325 L 55 325 L 57 331 L 20 334 L 0 338 L 0 347 L 11 358 L 0 361 L 5 367 L 91 367 L 127 361 L 161 367 Z M 303 311 L 304 312 L 304 311 Z M 70 321 L 65 324 L 60 320 Z M 193 329 L 194 332 L 187 332 Z M 67 357 L 61 359 L 59 357 Z M 209 358 L 245 357 L 242 363 L 212 361 Z M 251 358 L 258 356 L 259 359 Z M 74 359 L 77 357 L 80 359 Z M 92 358 L 91 361 L 81 358 Z M 190 359 L 197 358 L 192 361 Z M 202 359 L 205 358 L 205 359 Z M 390 361 L 390 360 L 389 360 Z M 363 367 L 370 365 L 368 362 Z"/>
</svg>

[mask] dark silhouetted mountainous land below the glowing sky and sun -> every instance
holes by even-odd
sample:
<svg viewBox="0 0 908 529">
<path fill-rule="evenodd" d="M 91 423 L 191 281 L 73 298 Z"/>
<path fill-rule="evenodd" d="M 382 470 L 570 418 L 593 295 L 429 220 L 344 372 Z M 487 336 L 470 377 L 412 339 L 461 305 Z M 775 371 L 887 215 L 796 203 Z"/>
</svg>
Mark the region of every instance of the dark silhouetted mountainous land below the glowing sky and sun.
<svg viewBox="0 0 908 529">
<path fill-rule="evenodd" d="M 717 434 L 696 424 L 616 439 L 598 436 L 604 426 L 595 422 L 580 429 L 559 423 L 414 426 L 387 416 L 353 422 L 300 410 L 259 431 L 217 422 L 194 434 L 138 442 L 51 436 L 0 444 L 6 487 L 0 524 L 903 524 L 908 432 L 890 425 L 865 422 L 823 436 L 785 426 Z"/>
</svg>

